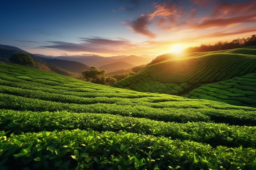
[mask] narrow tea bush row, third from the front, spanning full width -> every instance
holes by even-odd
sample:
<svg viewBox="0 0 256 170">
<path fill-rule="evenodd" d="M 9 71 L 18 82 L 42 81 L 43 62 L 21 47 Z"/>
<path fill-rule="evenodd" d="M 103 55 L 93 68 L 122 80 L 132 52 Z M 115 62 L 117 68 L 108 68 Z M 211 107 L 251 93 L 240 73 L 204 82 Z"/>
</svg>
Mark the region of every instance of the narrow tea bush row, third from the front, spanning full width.
<svg viewBox="0 0 256 170">
<path fill-rule="evenodd" d="M 117 104 L 68 104 L 45 101 L 0 93 L 0 107 L 14 110 L 58 111 L 67 110 L 76 113 L 109 113 L 132 117 L 146 117 L 159 121 L 215 121 L 234 125 L 255 125 L 256 111 L 222 110 L 209 108 L 151 108 L 141 105 Z M 186 107 L 186 106 L 185 106 Z"/>
</svg>

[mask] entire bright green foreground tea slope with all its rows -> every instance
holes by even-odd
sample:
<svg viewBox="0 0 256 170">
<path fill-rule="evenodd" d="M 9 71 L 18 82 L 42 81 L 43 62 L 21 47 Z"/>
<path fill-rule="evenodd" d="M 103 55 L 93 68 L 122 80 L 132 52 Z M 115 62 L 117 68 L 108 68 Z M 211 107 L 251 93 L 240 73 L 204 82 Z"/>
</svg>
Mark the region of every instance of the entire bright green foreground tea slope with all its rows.
<svg viewBox="0 0 256 170">
<path fill-rule="evenodd" d="M 0 63 L 0 113 L 1 170 L 256 168 L 252 107 Z"/>
</svg>

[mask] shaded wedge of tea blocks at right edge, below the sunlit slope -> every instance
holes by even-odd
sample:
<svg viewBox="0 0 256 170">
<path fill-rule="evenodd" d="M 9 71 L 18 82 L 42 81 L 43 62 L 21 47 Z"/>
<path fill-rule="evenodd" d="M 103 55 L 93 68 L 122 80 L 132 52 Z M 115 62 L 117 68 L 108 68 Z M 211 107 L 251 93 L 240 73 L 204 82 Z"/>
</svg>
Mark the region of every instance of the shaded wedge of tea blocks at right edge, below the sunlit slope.
<svg viewBox="0 0 256 170">
<path fill-rule="evenodd" d="M 256 107 L 256 73 L 213 84 L 203 84 L 184 95 L 184 97 Z"/>
</svg>

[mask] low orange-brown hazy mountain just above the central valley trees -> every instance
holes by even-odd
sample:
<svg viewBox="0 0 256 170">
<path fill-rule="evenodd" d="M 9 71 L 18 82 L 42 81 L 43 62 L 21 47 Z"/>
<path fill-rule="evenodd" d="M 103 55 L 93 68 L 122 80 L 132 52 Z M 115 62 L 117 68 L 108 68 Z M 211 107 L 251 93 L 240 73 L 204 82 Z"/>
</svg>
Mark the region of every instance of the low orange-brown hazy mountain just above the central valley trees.
<svg viewBox="0 0 256 170">
<path fill-rule="evenodd" d="M 127 62 L 114 62 L 111 64 L 106 64 L 106 65 L 100 66 L 99 69 L 106 70 L 109 73 L 109 72 L 122 70 L 122 69 L 127 70 L 127 69 L 130 69 L 133 67 L 135 67 L 135 65 L 127 63 Z"/>
</svg>

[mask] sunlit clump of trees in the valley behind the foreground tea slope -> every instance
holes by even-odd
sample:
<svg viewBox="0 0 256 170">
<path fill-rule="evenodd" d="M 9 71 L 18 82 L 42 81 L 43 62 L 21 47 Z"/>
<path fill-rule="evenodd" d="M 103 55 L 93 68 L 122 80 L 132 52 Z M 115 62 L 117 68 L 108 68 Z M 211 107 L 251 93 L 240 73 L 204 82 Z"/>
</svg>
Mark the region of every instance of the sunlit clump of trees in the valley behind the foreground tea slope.
<svg viewBox="0 0 256 170">
<path fill-rule="evenodd" d="M 100 70 L 97 67 L 90 67 L 87 71 L 83 71 L 83 78 L 87 82 L 97 83 L 97 84 L 104 84 L 104 85 L 111 85 L 117 82 L 115 78 L 108 77 L 105 70 Z"/>
</svg>

